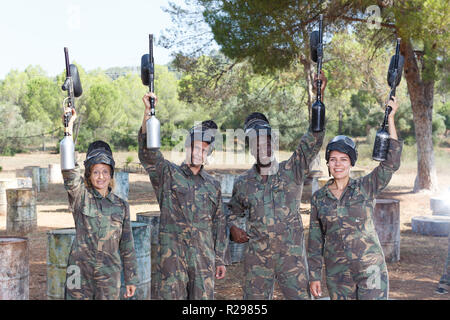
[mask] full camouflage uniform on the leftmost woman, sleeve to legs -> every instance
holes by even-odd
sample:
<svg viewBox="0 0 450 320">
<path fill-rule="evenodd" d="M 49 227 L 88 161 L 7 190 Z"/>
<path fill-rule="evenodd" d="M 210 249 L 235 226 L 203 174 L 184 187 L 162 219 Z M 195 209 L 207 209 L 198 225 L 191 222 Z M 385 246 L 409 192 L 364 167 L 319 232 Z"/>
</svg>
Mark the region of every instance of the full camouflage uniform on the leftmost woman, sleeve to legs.
<svg viewBox="0 0 450 320">
<path fill-rule="evenodd" d="M 120 274 L 125 284 L 137 285 L 137 260 L 128 203 L 110 192 L 103 198 L 86 187 L 76 164 L 62 170 L 64 186 L 75 220 L 76 237 L 69 256 L 66 299 L 119 299 Z M 77 266 L 81 286 L 73 287 L 71 266 Z"/>
</svg>

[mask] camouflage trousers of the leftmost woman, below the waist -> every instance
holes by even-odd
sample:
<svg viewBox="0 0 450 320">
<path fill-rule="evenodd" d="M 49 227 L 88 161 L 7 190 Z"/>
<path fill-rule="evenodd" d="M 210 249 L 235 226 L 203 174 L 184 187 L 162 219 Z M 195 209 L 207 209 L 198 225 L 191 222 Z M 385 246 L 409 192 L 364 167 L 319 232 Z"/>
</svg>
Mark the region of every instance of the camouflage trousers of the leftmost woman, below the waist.
<svg viewBox="0 0 450 320">
<path fill-rule="evenodd" d="M 120 270 L 94 268 L 89 263 L 70 263 L 67 271 L 64 292 L 66 300 L 119 300 Z"/>
</svg>

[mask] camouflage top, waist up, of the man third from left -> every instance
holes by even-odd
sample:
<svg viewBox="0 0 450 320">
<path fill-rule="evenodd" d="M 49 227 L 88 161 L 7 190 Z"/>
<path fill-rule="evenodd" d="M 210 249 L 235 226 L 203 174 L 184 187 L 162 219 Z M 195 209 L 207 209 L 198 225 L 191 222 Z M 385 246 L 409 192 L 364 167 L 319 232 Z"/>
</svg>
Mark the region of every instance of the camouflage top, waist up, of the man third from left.
<svg viewBox="0 0 450 320">
<path fill-rule="evenodd" d="M 278 170 L 267 182 L 257 172 L 256 164 L 240 175 L 233 186 L 229 206 L 229 225 L 239 227 L 237 218 L 248 210 L 247 234 L 250 243 L 282 236 L 282 242 L 298 244 L 303 224 L 299 212 L 303 182 L 309 173 L 312 159 L 323 142 L 325 130 L 303 135 L 292 156 L 274 163 Z"/>
</svg>

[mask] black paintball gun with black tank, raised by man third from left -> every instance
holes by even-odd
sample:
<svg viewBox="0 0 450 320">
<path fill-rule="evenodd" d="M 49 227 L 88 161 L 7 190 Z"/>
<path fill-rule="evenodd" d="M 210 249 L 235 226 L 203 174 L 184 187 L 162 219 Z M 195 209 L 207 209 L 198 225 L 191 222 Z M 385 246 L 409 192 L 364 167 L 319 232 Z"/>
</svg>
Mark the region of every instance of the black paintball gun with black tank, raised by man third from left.
<svg viewBox="0 0 450 320">
<path fill-rule="evenodd" d="M 322 71 L 323 58 L 323 15 L 319 17 L 319 31 L 313 31 L 309 35 L 311 60 L 317 63 L 317 75 Z M 322 103 L 322 80 L 317 80 L 316 102 L 311 107 L 311 129 L 313 132 L 320 132 L 324 129 L 325 105 Z"/>
</svg>

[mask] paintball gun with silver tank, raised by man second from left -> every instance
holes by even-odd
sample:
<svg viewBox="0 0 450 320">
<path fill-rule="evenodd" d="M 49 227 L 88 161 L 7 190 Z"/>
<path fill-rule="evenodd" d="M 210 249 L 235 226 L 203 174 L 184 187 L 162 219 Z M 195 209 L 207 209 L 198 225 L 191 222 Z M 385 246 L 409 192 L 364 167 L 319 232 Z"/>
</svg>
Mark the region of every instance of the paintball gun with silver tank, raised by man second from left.
<svg viewBox="0 0 450 320">
<path fill-rule="evenodd" d="M 149 92 L 155 92 L 155 63 L 153 60 L 153 34 L 149 35 L 149 53 L 141 58 L 141 80 Z M 155 99 L 150 98 L 150 119 L 146 122 L 147 149 L 161 147 L 161 123 L 155 116 Z"/>
</svg>

